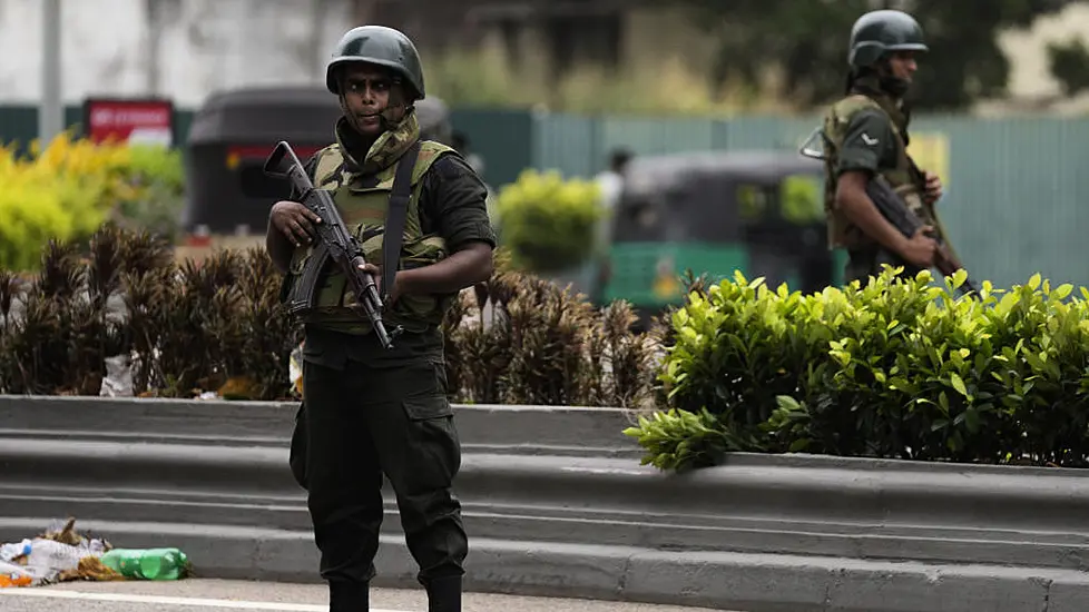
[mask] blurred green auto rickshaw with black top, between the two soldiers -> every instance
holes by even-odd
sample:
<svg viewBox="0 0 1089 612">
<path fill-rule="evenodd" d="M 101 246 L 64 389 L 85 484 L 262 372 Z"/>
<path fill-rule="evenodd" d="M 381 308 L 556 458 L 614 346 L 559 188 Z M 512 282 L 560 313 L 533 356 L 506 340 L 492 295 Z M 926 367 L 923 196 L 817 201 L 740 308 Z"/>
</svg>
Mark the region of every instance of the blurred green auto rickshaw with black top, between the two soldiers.
<svg viewBox="0 0 1089 612">
<path fill-rule="evenodd" d="M 683 275 L 764 277 L 822 290 L 843 265 L 827 248 L 820 161 L 794 151 L 636 157 L 612 218 L 604 302 L 648 317 L 684 302 Z"/>
</svg>

